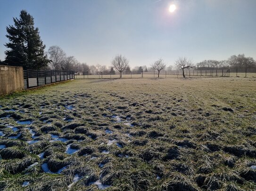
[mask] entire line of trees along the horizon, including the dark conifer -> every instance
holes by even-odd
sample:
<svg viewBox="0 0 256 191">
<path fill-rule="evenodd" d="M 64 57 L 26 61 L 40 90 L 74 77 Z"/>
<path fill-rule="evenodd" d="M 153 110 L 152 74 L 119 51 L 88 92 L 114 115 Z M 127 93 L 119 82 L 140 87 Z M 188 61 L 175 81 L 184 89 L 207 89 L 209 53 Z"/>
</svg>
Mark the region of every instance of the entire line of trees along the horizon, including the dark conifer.
<svg viewBox="0 0 256 191">
<path fill-rule="evenodd" d="M 205 60 L 194 64 L 186 57 L 180 57 L 175 61 L 175 66 L 168 66 L 160 58 L 147 68 L 146 65 L 136 66 L 133 69 L 129 66 L 129 60 L 117 54 L 111 61 L 111 66 L 91 65 L 78 62 L 74 56 L 67 56 L 65 51 L 59 46 L 50 46 L 45 52 L 39 35 L 39 29 L 34 27 L 33 16 L 25 10 L 21 10 L 19 18 L 13 18 L 14 25 L 6 27 L 9 42 L 5 44 L 5 61 L 0 61 L 2 65 L 22 66 L 24 69 L 56 69 L 56 70 L 74 70 L 83 75 L 103 75 L 108 74 L 140 74 L 155 70 L 159 73 L 161 70 L 172 71 L 173 69 L 221 69 L 221 68 L 255 68 L 256 61 L 252 57 L 246 57 L 244 54 L 232 55 L 224 61 Z"/>
</svg>

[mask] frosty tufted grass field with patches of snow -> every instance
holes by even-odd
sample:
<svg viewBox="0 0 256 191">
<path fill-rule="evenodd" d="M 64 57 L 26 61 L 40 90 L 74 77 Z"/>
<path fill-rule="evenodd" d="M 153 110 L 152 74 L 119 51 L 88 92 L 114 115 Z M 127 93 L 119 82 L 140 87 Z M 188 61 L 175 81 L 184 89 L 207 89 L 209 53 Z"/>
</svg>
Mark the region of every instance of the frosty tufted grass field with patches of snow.
<svg viewBox="0 0 256 191">
<path fill-rule="evenodd" d="M 1 191 L 255 191 L 256 79 L 77 79 L 0 97 Z"/>
</svg>

